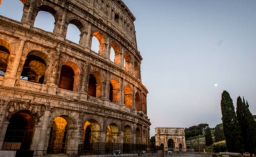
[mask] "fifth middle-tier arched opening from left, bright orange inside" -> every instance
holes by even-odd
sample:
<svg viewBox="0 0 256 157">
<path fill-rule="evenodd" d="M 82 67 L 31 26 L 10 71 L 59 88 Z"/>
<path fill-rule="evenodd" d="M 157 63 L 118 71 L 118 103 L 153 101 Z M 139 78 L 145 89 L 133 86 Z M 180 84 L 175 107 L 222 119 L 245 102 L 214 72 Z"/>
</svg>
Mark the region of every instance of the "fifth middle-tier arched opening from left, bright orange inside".
<svg viewBox="0 0 256 157">
<path fill-rule="evenodd" d="M 109 84 L 109 101 L 119 103 L 120 85 L 117 80 L 111 79 Z"/>
</svg>

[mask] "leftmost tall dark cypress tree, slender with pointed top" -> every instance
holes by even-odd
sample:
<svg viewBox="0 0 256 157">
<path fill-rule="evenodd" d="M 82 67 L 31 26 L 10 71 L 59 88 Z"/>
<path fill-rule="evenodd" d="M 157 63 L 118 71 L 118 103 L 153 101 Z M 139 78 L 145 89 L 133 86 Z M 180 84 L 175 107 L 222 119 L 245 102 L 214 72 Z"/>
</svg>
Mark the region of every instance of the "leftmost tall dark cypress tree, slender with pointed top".
<svg viewBox="0 0 256 157">
<path fill-rule="evenodd" d="M 221 98 L 221 112 L 226 147 L 229 152 L 243 152 L 241 128 L 237 120 L 233 101 L 228 92 L 224 91 Z"/>
</svg>

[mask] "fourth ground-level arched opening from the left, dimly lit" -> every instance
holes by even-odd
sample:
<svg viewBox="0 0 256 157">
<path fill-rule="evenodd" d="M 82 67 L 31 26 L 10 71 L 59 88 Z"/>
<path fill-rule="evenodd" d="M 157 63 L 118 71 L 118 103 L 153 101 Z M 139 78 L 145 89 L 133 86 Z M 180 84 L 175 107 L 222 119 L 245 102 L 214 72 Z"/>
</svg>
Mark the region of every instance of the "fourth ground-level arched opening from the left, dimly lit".
<svg viewBox="0 0 256 157">
<path fill-rule="evenodd" d="M 119 138 L 119 129 L 117 124 L 111 123 L 107 126 L 106 129 L 106 152 L 113 152 L 118 150 L 118 138 Z"/>
</svg>

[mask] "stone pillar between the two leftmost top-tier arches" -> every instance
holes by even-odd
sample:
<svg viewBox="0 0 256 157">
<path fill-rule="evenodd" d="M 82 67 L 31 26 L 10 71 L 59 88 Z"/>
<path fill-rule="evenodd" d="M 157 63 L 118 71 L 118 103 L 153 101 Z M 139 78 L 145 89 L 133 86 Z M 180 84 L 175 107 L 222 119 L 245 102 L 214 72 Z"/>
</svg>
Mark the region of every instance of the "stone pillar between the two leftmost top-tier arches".
<svg viewBox="0 0 256 157">
<path fill-rule="evenodd" d="M 33 11 L 34 11 L 34 7 L 35 7 L 35 1 L 36 0 L 30 0 L 29 7 L 26 6 L 26 4 L 24 4 L 23 15 L 22 15 L 22 18 L 21 18 L 22 23 L 26 23 L 28 25 L 31 25 L 31 18 L 32 18 L 32 14 L 33 14 Z"/>
</svg>

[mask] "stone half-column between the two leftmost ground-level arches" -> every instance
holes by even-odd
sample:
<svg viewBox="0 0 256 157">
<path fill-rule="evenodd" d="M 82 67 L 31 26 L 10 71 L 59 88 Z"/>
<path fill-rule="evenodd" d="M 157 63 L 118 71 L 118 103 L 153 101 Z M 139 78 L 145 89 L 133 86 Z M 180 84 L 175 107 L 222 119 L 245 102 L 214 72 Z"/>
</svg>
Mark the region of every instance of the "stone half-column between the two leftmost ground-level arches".
<svg viewBox="0 0 256 157">
<path fill-rule="evenodd" d="M 44 113 L 44 118 L 43 118 L 43 122 L 42 122 L 42 128 L 41 128 L 41 132 L 40 132 L 40 135 L 38 135 L 40 138 L 40 141 L 38 142 L 37 144 L 37 155 L 39 156 L 43 156 L 44 155 L 44 148 L 45 148 L 45 145 L 47 143 L 46 139 L 46 134 L 47 134 L 47 129 L 48 129 L 48 126 L 49 126 L 49 118 L 51 116 L 51 112 L 49 110 L 46 110 L 45 113 Z"/>
</svg>

